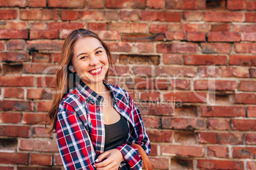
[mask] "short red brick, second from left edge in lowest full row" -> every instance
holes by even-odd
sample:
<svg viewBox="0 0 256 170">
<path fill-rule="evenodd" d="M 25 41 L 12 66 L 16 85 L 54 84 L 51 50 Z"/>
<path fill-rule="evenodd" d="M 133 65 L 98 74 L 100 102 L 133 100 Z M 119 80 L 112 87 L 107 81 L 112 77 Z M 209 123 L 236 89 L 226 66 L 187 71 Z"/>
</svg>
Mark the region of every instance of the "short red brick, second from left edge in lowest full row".
<svg viewBox="0 0 256 170">
<path fill-rule="evenodd" d="M 41 166 L 51 166 L 52 165 L 52 155 L 31 154 L 30 164 L 31 165 L 41 165 Z"/>
</svg>

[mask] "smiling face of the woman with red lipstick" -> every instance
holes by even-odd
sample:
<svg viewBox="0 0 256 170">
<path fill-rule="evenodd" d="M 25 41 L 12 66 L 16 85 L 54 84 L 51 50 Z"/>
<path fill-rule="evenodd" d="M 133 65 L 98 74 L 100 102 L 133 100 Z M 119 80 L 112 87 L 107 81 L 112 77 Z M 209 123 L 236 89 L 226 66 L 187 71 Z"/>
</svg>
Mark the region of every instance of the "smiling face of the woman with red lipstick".
<svg viewBox="0 0 256 170">
<path fill-rule="evenodd" d="M 72 65 L 87 86 L 102 82 L 108 71 L 108 55 L 94 37 L 78 39 L 74 44 Z"/>
</svg>

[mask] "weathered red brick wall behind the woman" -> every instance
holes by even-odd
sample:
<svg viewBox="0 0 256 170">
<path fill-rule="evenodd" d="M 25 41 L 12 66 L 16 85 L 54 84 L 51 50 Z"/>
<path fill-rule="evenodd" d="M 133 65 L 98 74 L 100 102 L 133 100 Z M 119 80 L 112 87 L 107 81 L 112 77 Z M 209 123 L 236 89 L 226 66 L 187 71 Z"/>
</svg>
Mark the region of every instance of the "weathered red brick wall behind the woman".
<svg viewBox="0 0 256 170">
<path fill-rule="evenodd" d="M 43 86 L 55 70 L 43 82 L 41 75 L 78 28 L 110 44 L 117 65 L 110 81 L 119 79 L 138 103 L 154 169 L 256 169 L 256 1 L 0 6 L 0 169 L 62 168 L 55 134 L 44 133 L 51 95 Z"/>
</svg>

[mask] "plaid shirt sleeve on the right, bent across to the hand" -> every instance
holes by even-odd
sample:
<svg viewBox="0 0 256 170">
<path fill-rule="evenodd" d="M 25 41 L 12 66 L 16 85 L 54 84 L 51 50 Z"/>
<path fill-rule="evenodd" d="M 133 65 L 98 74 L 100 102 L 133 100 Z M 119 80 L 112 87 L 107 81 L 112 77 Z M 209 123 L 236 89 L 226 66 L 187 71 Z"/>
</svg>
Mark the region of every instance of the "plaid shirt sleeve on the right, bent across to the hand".
<svg viewBox="0 0 256 170">
<path fill-rule="evenodd" d="M 143 124 L 141 114 L 139 112 L 138 107 L 136 106 L 136 103 L 132 98 L 129 96 L 129 102 L 131 107 L 131 114 L 133 117 L 133 121 L 135 124 L 134 131 L 135 131 L 135 138 L 132 141 L 132 144 L 139 144 L 141 147 L 144 148 L 146 154 L 150 154 L 150 140 L 148 139 L 148 135 L 146 134 L 146 129 Z M 118 150 L 122 153 L 124 156 L 124 159 L 129 164 L 130 168 L 132 170 L 141 169 L 141 158 L 139 155 L 139 151 L 136 147 L 132 147 L 127 144 L 120 145 L 117 147 Z"/>
</svg>

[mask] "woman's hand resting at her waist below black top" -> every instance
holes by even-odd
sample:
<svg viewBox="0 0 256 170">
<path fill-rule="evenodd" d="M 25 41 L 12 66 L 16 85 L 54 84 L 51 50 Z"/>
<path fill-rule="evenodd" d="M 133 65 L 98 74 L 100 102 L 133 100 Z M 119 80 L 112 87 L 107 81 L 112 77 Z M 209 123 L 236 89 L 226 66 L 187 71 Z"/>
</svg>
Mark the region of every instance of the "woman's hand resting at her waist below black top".
<svg viewBox="0 0 256 170">
<path fill-rule="evenodd" d="M 99 163 L 94 164 L 94 167 L 97 170 L 117 170 L 122 161 L 124 161 L 124 157 L 120 150 L 111 149 L 99 155 L 96 159 L 96 162 Z"/>
</svg>

